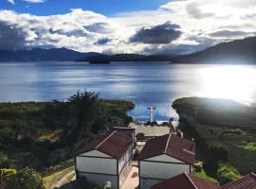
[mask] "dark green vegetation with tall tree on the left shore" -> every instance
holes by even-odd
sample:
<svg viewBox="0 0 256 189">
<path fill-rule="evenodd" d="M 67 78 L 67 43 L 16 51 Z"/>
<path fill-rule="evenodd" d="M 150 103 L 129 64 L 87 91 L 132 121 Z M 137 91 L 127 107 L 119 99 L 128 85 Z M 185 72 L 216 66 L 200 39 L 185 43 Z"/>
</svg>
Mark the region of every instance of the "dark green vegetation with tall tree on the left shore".
<svg viewBox="0 0 256 189">
<path fill-rule="evenodd" d="M 47 167 L 73 158 L 80 146 L 108 129 L 127 126 L 132 121 L 127 112 L 133 108 L 131 102 L 103 100 L 88 92 L 66 102 L 2 103 L 0 168 L 50 172 Z"/>
</svg>

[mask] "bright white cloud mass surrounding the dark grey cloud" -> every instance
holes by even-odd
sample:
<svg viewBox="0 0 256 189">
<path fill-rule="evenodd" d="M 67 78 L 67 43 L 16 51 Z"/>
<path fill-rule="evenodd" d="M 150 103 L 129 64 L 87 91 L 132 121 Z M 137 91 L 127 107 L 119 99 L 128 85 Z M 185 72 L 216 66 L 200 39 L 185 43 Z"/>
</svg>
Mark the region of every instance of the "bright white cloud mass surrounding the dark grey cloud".
<svg viewBox="0 0 256 189">
<path fill-rule="evenodd" d="M 110 17 L 82 9 L 52 16 L 0 10 L 0 21 L 22 28 L 26 46 L 67 47 L 83 52 L 187 53 L 255 35 L 255 15 L 255 0 L 181 0 L 155 10 L 122 12 Z M 174 42 L 130 43 L 141 28 L 167 22 L 180 26 L 182 35 Z"/>
</svg>

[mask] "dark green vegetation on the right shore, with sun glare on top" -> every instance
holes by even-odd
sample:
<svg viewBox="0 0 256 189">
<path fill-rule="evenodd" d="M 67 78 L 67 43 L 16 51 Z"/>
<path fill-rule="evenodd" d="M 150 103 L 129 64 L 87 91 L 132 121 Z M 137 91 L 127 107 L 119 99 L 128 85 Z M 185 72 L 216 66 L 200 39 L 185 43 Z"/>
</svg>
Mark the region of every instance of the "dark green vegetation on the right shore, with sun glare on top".
<svg viewBox="0 0 256 189">
<path fill-rule="evenodd" d="M 256 172 L 256 108 L 197 97 L 177 99 L 173 107 L 210 176 L 225 183 Z"/>
</svg>

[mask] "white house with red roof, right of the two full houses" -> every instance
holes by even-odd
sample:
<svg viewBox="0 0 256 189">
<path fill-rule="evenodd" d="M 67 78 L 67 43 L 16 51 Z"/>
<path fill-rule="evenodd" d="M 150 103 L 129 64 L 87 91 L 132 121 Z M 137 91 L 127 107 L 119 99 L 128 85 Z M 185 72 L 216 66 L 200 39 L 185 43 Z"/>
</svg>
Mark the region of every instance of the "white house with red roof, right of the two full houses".
<svg viewBox="0 0 256 189">
<path fill-rule="evenodd" d="M 163 180 L 184 172 L 191 173 L 195 162 L 194 150 L 192 141 L 174 134 L 149 140 L 137 158 L 140 188 L 149 189 Z"/>
</svg>

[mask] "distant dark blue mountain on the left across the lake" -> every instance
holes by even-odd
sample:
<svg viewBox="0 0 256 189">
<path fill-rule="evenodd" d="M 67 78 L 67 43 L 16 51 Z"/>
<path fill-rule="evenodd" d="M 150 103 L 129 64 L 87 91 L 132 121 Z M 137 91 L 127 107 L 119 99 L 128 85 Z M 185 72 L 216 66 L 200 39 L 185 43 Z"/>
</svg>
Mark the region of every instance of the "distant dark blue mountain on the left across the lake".
<svg viewBox="0 0 256 189">
<path fill-rule="evenodd" d="M 99 53 L 81 53 L 66 48 L 0 50 L 0 61 L 74 61 L 98 55 Z"/>
</svg>

